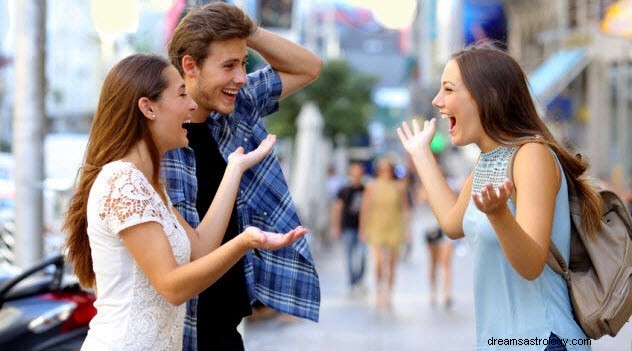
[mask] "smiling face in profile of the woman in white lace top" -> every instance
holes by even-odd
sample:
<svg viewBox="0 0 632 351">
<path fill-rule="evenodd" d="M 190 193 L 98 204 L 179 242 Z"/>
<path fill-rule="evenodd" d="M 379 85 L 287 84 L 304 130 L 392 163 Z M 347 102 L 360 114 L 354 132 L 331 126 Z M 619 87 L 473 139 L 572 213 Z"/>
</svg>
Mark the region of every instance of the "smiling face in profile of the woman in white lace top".
<svg viewBox="0 0 632 351">
<path fill-rule="evenodd" d="M 197 108 L 195 101 L 187 95 L 184 81 L 175 67 L 168 66 L 162 74 L 167 87 L 157 101 L 150 102 L 149 123 L 160 153 L 187 146 L 187 131 L 182 124 L 191 121 L 191 112 Z"/>
</svg>

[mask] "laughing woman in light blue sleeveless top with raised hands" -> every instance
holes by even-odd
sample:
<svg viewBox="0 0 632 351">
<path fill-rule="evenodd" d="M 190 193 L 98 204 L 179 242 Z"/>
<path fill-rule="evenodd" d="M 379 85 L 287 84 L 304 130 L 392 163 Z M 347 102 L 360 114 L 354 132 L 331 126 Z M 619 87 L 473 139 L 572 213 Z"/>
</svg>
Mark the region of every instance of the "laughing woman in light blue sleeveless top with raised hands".
<svg viewBox="0 0 632 351">
<path fill-rule="evenodd" d="M 566 282 L 545 265 L 551 240 L 569 258 L 565 175 L 580 196 L 584 227 L 599 223 L 601 203 L 582 177 L 588 164 L 553 138 L 518 63 L 489 44 L 453 55 L 432 103 L 455 145 L 481 150 L 457 198 L 430 150 L 435 120 L 397 130 L 441 228 L 472 247 L 477 350 L 590 350 Z"/>
</svg>

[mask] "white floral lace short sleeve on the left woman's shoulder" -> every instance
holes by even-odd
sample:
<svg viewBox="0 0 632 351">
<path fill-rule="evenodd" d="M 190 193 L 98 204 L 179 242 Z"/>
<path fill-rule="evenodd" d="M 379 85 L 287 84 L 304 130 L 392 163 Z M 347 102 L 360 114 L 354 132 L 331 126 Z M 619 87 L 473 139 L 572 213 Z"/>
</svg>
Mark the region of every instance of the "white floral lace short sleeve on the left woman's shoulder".
<svg viewBox="0 0 632 351">
<path fill-rule="evenodd" d="M 99 218 L 113 233 L 140 223 L 161 223 L 157 194 L 140 171 L 121 168 L 104 183 L 106 190 L 99 201 Z"/>
</svg>

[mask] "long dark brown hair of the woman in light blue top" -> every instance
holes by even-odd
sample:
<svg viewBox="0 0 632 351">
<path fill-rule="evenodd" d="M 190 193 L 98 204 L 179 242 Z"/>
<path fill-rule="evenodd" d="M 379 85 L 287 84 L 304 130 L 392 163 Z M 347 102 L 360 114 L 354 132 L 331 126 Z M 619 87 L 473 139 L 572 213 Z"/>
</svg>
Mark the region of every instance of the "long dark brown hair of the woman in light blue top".
<svg viewBox="0 0 632 351">
<path fill-rule="evenodd" d="M 558 143 L 537 113 L 522 68 L 490 42 L 477 43 L 455 54 L 468 91 L 476 101 L 485 133 L 502 145 L 539 142 L 557 155 L 582 207 L 582 227 L 599 228 L 603 204 L 585 176 L 588 162 Z"/>
</svg>

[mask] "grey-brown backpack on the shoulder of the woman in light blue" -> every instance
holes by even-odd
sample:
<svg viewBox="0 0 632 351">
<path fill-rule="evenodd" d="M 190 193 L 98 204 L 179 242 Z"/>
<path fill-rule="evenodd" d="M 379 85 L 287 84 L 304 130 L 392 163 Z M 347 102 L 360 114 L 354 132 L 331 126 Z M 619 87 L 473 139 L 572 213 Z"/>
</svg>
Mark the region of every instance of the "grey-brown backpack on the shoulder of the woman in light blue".
<svg viewBox="0 0 632 351">
<path fill-rule="evenodd" d="M 586 336 L 615 336 L 632 315 L 632 219 L 612 191 L 598 190 L 604 212 L 592 236 L 582 229 L 581 205 L 568 182 L 571 246 L 568 265 L 551 242 L 547 264 L 567 282 L 575 320 Z"/>
</svg>

